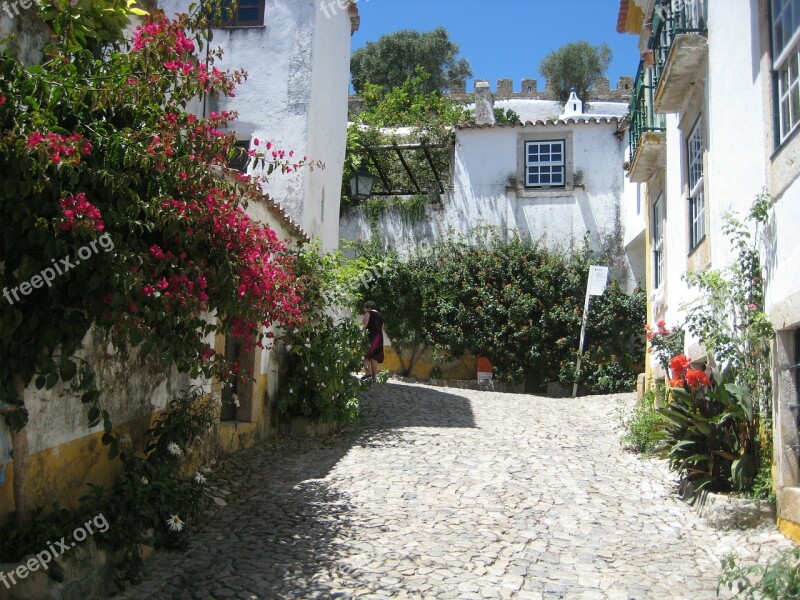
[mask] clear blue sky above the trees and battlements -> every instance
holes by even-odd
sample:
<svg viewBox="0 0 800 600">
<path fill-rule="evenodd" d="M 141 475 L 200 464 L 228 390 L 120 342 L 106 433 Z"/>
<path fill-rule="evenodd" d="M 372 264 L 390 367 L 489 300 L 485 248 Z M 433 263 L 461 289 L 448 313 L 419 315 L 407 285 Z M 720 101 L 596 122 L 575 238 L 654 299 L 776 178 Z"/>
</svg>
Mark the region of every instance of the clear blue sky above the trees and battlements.
<svg viewBox="0 0 800 600">
<path fill-rule="evenodd" d="M 538 80 L 539 63 L 551 50 L 568 42 L 606 42 L 613 52 L 608 78 L 636 75 L 637 38 L 617 33 L 619 0 L 358 0 L 361 27 L 352 38 L 353 50 L 400 29 L 430 31 L 442 26 L 461 49 L 478 79 Z M 472 81 L 467 82 L 467 91 Z"/>
</svg>

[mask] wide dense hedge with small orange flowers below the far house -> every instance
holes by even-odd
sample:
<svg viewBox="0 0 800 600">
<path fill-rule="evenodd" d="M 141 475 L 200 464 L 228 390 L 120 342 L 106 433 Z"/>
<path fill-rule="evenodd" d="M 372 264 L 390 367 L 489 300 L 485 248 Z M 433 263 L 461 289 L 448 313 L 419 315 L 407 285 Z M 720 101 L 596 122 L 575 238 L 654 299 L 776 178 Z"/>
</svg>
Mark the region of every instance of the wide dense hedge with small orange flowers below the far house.
<svg viewBox="0 0 800 600">
<path fill-rule="evenodd" d="M 517 238 L 448 241 L 395 258 L 370 297 L 399 348 L 479 353 L 498 379 L 541 389 L 574 376 L 589 258 L 586 248 L 568 255 Z M 632 323 L 643 318 L 644 296 L 612 284 L 595 305 L 582 381 L 592 391 L 630 390 L 641 338 Z"/>
</svg>

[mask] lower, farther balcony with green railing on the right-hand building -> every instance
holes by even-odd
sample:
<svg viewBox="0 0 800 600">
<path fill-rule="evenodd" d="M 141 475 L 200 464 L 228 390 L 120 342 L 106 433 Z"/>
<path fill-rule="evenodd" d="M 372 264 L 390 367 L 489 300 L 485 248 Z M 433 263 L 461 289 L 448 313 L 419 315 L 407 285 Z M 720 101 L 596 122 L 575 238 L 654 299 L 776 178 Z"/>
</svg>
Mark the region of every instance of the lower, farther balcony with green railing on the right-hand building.
<svg viewBox="0 0 800 600">
<path fill-rule="evenodd" d="M 639 63 L 630 104 L 631 181 L 645 182 L 663 162 L 666 118 L 653 110 L 653 69 Z"/>
</svg>

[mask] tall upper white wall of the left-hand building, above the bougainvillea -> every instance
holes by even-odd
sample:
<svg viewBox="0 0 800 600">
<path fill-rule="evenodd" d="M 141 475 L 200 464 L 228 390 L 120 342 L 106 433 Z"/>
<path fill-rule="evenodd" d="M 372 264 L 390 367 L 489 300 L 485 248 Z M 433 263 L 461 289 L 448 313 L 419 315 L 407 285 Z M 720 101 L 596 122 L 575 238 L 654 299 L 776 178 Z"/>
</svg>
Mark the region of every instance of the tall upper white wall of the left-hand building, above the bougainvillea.
<svg viewBox="0 0 800 600">
<path fill-rule="evenodd" d="M 187 12 L 189 4 L 159 2 L 167 15 Z M 313 0 L 265 2 L 263 26 L 213 30 L 211 45 L 223 50 L 217 67 L 243 69 L 248 77 L 235 97 L 201 103 L 206 113 L 236 111 L 239 141 L 271 141 L 294 151 L 293 159 L 306 156 L 314 164 L 274 174 L 265 191 L 311 237 L 319 237 L 324 250 L 338 246 L 354 26 L 347 9 L 326 14 Z"/>
</svg>

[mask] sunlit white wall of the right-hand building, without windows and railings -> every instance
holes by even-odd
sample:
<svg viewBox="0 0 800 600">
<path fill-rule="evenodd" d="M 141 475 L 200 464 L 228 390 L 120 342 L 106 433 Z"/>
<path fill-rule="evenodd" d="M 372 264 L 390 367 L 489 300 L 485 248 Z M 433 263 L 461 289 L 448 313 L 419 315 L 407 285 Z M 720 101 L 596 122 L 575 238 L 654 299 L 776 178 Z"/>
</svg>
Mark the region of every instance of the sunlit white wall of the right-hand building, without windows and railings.
<svg viewBox="0 0 800 600">
<path fill-rule="evenodd" d="M 628 18 L 636 15 L 634 4 L 644 9 L 638 22 Z M 743 220 L 760 194 L 769 197 L 768 220 L 758 239 L 765 312 L 776 330 L 771 348 L 775 485 L 779 526 L 798 539 L 800 385 L 798 371 L 789 367 L 800 363 L 800 237 L 796 232 L 800 223 L 800 126 L 784 126 L 783 133 L 779 129 L 781 112 L 776 99 L 780 78 L 775 73 L 786 68 L 782 54 L 798 52 L 800 28 L 796 20 L 787 25 L 789 30 L 794 27 L 794 37 L 787 36 L 786 47 L 776 53 L 770 32 L 775 18 L 772 9 L 782 4 L 695 0 L 698 14 L 705 17 L 706 31 L 683 34 L 681 39 L 676 36 L 663 67 L 665 79 L 654 92 L 656 100 L 651 107 L 662 102 L 667 109 L 662 112 L 669 113 L 660 158 L 654 168 L 643 163 L 647 168 L 631 175 L 646 180 L 648 318 L 651 324 L 664 318 L 668 327 L 682 325 L 686 307 L 697 298 L 697 292 L 685 283 L 687 273 L 722 270 L 737 259 L 723 231 L 726 216 L 733 214 Z M 620 22 L 628 33 L 641 36 L 642 48 L 650 36 L 646 24 L 653 8 L 652 0 L 624 0 L 621 4 Z M 676 98 L 680 102 L 674 102 Z M 705 235 L 692 244 L 689 154 L 690 138 L 697 131 L 703 146 L 700 189 L 705 197 Z M 662 282 L 656 285 L 654 232 L 659 199 L 665 207 L 664 267 Z M 703 359 L 706 353 L 689 336 L 685 351 L 693 359 Z"/>
</svg>

